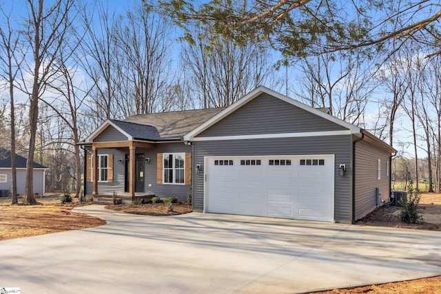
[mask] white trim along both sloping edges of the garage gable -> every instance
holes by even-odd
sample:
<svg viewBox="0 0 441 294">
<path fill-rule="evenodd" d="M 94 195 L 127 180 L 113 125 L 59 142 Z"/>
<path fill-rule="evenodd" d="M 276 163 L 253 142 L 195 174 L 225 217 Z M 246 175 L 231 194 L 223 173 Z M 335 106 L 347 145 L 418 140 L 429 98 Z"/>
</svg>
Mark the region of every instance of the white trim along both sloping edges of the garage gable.
<svg viewBox="0 0 441 294">
<path fill-rule="evenodd" d="M 201 132 L 205 131 L 205 129 L 208 129 L 212 125 L 218 123 L 218 121 L 222 120 L 232 112 L 236 111 L 236 109 L 242 107 L 243 105 L 247 104 L 249 101 L 252 101 L 254 98 L 259 96 L 260 94 L 269 94 L 271 96 L 274 96 L 275 98 L 278 98 L 282 101 L 285 101 L 286 103 L 289 103 L 291 105 L 294 105 L 300 109 L 303 109 L 307 112 L 310 112 L 311 114 L 316 114 L 316 116 L 320 116 L 321 118 L 325 118 L 326 120 L 331 121 L 332 123 L 336 123 L 337 125 L 340 125 L 342 127 L 345 127 L 349 129 L 351 134 L 354 133 L 360 133 L 360 127 L 357 127 L 356 125 L 352 125 L 351 123 L 347 123 L 345 120 L 342 120 L 340 118 L 337 118 L 335 116 L 331 116 L 330 114 L 327 114 L 325 112 L 322 112 L 318 109 L 315 109 L 314 107 L 311 107 L 309 105 L 306 105 L 304 103 L 301 103 L 300 101 L 296 101 L 293 98 L 289 98 L 288 96 L 285 96 L 283 94 L 280 94 L 278 92 L 275 92 L 273 90 L 268 89 L 267 87 L 259 86 L 256 87 L 256 89 L 252 90 L 252 92 L 249 92 L 242 98 L 240 98 L 238 101 L 233 103 L 232 105 L 229 105 L 229 107 L 223 109 L 223 111 L 219 112 L 209 120 L 207 120 L 202 125 L 199 125 L 196 127 L 196 129 L 193 129 L 192 132 L 189 132 L 183 137 L 183 140 L 185 141 L 192 141 L 196 140 L 196 136 L 198 134 L 201 134 Z"/>
</svg>

